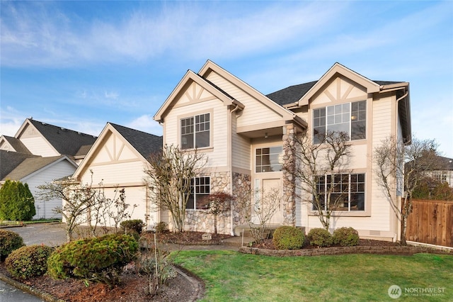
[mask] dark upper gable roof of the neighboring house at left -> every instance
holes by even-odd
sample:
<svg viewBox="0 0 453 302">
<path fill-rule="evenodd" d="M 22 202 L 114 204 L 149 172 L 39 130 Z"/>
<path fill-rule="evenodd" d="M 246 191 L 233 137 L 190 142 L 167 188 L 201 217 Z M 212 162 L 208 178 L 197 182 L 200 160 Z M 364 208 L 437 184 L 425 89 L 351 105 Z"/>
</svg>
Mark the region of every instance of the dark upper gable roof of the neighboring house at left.
<svg viewBox="0 0 453 302">
<path fill-rule="evenodd" d="M 16 138 L 20 137 L 26 125 L 33 125 L 42 137 L 61 155 L 74 156 L 81 146 L 93 145 L 96 140 L 96 136 L 35 121 L 31 118 L 25 119 L 25 122 L 16 133 Z"/>
</svg>

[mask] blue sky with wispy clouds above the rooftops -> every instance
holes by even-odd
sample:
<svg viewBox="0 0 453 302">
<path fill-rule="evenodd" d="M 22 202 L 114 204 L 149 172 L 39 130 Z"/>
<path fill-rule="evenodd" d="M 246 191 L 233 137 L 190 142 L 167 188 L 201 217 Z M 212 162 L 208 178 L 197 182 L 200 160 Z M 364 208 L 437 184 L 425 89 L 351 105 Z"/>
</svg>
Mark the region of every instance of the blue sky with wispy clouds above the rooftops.
<svg viewBox="0 0 453 302">
<path fill-rule="evenodd" d="M 263 94 L 335 62 L 411 83 L 416 138 L 453 157 L 453 1 L 1 1 L 0 133 L 25 118 L 161 135 L 153 116 L 206 60 Z"/>
</svg>

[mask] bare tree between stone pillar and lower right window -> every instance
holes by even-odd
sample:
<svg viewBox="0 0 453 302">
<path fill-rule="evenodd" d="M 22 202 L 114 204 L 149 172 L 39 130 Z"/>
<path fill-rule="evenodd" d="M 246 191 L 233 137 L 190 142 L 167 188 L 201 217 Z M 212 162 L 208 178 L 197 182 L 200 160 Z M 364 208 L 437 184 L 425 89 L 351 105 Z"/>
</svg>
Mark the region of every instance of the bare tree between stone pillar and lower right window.
<svg viewBox="0 0 453 302">
<path fill-rule="evenodd" d="M 295 135 L 292 155 L 296 164 L 289 163 L 285 169 L 296 179 L 301 201 L 311 205 L 328 230 L 333 211 L 348 198 L 348 186 L 342 184 L 348 181 L 351 150 L 347 133 L 327 132 L 317 138 L 321 143 L 312 142 L 307 132 Z"/>
</svg>

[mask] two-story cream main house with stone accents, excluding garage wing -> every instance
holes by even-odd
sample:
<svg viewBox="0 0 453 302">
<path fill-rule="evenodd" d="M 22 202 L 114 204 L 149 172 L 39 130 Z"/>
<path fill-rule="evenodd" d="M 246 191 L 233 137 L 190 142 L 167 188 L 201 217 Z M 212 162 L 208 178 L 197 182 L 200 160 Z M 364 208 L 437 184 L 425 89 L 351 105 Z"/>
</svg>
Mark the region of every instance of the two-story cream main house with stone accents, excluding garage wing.
<svg viewBox="0 0 453 302">
<path fill-rule="evenodd" d="M 372 81 L 336 63 L 318 81 L 265 96 L 208 60 L 200 72 L 184 75 L 154 120 L 163 125 L 164 144 L 196 147 L 209 159 L 188 204 L 188 230 L 213 230 L 212 216 L 197 206 L 200 197 L 214 191 L 246 196 L 270 188 L 285 196 L 270 223 L 304 227 L 307 232 L 321 227 L 311 205 L 294 197 L 294 179 L 283 168 L 289 158 L 285 155 L 301 130 L 340 127 L 352 138 L 349 181 L 356 185 L 351 193 L 362 203 L 352 205 L 349 200 L 343 211 L 334 212 L 331 227 L 352 227 L 361 237 L 398 240 L 399 223 L 377 184 L 372 153 L 391 135 L 411 143 L 407 82 Z M 229 215 L 219 218 L 219 233 L 235 233 L 245 223 L 238 209 L 236 201 Z"/>
</svg>

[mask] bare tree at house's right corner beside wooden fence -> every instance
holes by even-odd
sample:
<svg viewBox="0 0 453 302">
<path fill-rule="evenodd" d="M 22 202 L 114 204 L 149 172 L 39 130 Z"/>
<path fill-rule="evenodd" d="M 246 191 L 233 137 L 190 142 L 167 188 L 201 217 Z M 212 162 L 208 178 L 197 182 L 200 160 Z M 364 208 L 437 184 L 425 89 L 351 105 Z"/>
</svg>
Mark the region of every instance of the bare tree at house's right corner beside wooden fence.
<svg viewBox="0 0 453 302">
<path fill-rule="evenodd" d="M 437 165 L 435 140 L 413 139 L 411 145 L 398 143 L 393 136 L 374 148 L 377 182 L 401 222 L 401 245 L 406 245 L 407 219 L 412 210 L 412 194 Z M 401 205 L 399 204 L 401 197 Z"/>
</svg>

